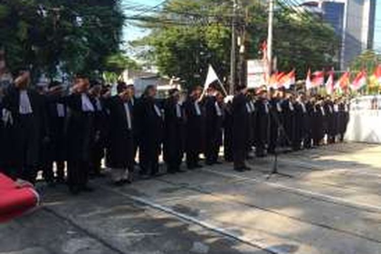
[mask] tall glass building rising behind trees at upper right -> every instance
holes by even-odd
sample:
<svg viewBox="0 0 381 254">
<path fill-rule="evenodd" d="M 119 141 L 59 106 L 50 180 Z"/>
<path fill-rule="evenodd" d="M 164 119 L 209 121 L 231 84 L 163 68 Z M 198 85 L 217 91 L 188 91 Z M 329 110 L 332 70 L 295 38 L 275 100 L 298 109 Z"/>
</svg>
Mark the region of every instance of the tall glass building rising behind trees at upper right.
<svg viewBox="0 0 381 254">
<path fill-rule="evenodd" d="M 375 6 L 376 0 L 304 1 L 301 5 L 330 23 L 341 38 L 341 69 L 362 51 L 373 48 Z"/>
</svg>

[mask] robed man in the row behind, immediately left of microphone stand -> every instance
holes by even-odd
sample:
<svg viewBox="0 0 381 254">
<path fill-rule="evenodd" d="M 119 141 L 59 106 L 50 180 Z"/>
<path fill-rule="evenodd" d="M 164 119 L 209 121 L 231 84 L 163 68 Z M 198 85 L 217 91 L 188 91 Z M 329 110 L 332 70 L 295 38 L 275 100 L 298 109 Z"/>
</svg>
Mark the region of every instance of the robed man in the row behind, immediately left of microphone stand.
<svg viewBox="0 0 381 254">
<path fill-rule="evenodd" d="M 258 91 L 259 97 L 256 101 L 256 155 L 264 157 L 268 140 L 270 109 L 267 101 L 267 90 L 265 88 Z"/>
</svg>

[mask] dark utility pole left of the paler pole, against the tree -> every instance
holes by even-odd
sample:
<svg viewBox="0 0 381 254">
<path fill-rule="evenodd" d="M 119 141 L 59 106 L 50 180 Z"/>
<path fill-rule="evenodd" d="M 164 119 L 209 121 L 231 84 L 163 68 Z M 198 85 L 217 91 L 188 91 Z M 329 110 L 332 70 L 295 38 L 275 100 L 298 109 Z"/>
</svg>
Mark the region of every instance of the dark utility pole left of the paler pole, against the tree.
<svg viewBox="0 0 381 254">
<path fill-rule="evenodd" d="M 233 21 L 232 21 L 232 49 L 230 52 L 230 87 L 229 93 L 234 94 L 234 86 L 237 76 L 237 34 L 236 34 L 236 23 L 237 23 L 237 0 L 233 0 Z"/>
</svg>

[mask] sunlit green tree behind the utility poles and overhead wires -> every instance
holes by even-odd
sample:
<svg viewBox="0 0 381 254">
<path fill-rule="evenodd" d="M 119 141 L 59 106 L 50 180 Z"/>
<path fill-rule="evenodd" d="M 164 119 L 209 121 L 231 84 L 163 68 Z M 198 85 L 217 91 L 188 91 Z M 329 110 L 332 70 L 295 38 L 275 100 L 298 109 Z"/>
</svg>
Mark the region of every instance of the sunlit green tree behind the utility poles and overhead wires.
<svg viewBox="0 0 381 254">
<path fill-rule="evenodd" d="M 262 1 L 242 1 L 237 24 L 246 28 L 246 57 L 261 58 L 259 48 L 267 38 L 267 7 Z M 228 0 L 169 0 L 153 16 L 141 17 L 141 26 L 151 34 L 135 45 L 144 46 L 144 56 L 158 70 L 176 76 L 188 85 L 200 84 L 209 63 L 224 80 L 230 70 L 232 2 Z M 304 17 L 288 7 L 278 8 L 274 23 L 274 55 L 278 69 L 296 68 L 304 77 L 308 68 L 337 65 L 339 42 L 332 27 Z M 148 46 L 148 47 L 147 47 Z"/>
</svg>

